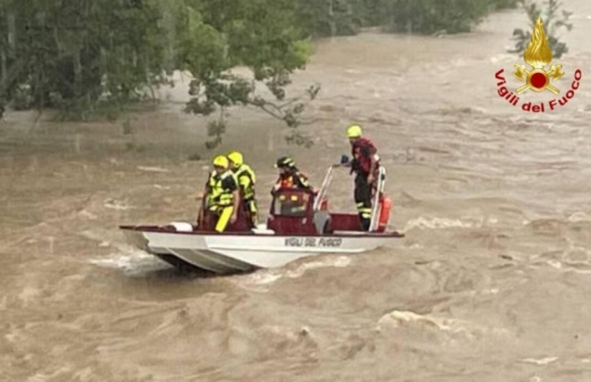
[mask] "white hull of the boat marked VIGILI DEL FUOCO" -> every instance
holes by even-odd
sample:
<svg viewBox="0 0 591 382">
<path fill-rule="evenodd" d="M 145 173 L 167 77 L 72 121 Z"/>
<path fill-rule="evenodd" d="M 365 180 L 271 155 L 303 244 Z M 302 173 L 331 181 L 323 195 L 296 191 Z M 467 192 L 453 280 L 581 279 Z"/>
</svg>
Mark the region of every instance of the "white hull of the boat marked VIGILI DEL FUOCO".
<svg viewBox="0 0 591 382">
<path fill-rule="evenodd" d="M 124 229 L 128 242 L 156 256 L 174 256 L 216 273 L 282 267 L 320 254 L 359 254 L 393 242 L 400 235 L 220 235 Z"/>
</svg>

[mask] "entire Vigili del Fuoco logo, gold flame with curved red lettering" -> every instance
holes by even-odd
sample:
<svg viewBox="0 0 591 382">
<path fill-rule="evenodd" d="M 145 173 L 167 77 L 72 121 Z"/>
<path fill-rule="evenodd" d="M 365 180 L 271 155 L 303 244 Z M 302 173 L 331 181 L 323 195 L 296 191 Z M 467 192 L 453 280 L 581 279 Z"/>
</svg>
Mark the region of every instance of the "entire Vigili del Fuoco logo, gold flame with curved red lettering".
<svg viewBox="0 0 591 382">
<path fill-rule="evenodd" d="M 506 86 L 507 81 L 503 76 L 505 69 L 500 69 L 494 74 L 494 78 L 497 80 L 496 87 L 499 97 L 507 100 L 510 105 L 521 106 L 521 110 L 532 113 L 545 113 L 565 106 L 575 96 L 576 90 L 581 84 L 583 72 L 581 72 L 581 69 L 574 71 L 569 90 L 560 96 L 556 81 L 560 80 L 565 73 L 562 72 L 562 65 L 552 65 L 548 70 L 546 69 L 552 62 L 552 52 L 541 18 L 538 18 L 535 23 L 531 41 L 524 52 L 524 60 L 531 68 L 526 68 L 526 65 L 515 65 L 513 76 L 524 83 L 515 92 L 510 91 Z M 538 103 L 526 101 L 520 103 L 519 96 L 528 90 L 533 92 L 549 91 L 558 97 Z"/>
</svg>

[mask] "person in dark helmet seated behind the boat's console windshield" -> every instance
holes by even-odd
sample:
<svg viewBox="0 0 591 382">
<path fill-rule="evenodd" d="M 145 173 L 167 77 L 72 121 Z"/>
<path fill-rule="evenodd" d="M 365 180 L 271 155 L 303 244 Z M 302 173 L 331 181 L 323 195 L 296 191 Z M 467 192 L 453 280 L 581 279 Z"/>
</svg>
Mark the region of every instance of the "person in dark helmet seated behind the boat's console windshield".
<svg viewBox="0 0 591 382">
<path fill-rule="evenodd" d="M 282 156 L 277 159 L 275 167 L 279 169 L 279 178 L 277 178 L 273 190 L 271 190 L 273 196 L 280 189 L 312 190 L 307 176 L 302 174 L 298 167 L 295 167 L 292 158 Z M 308 198 L 308 194 L 280 194 L 278 199 L 280 201 L 281 215 L 296 216 L 305 213 Z"/>
</svg>

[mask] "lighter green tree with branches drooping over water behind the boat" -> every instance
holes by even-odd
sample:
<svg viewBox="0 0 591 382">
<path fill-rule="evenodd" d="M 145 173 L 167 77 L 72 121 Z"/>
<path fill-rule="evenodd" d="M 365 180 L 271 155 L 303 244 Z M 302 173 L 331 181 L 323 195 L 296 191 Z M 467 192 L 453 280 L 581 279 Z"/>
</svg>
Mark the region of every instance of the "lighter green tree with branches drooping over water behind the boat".
<svg viewBox="0 0 591 382">
<path fill-rule="evenodd" d="M 295 127 L 302 124 L 306 101 L 314 99 L 318 86 L 303 96 L 288 99 L 289 75 L 303 69 L 311 54 L 305 29 L 298 27 L 297 4 L 292 0 L 193 1 L 181 28 L 179 65 L 193 75 L 192 97 L 186 111 L 220 118 L 208 126 L 213 147 L 225 131 L 224 112 L 235 105 L 255 106 L 282 119 L 293 129 L 289 140 L 309 144 Z M 252 76 L 232 72 L 248 67 Z M 263 85 L 274 97 L 259 95 Z"/>
</svg>

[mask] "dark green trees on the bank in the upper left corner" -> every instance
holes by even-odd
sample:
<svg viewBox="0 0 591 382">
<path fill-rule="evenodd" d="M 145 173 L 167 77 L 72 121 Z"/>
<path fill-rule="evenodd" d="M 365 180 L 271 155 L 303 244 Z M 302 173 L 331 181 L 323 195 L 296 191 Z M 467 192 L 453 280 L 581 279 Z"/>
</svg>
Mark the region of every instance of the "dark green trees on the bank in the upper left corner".
<svg viewBox="0 0 591 382">
<path fill-rule="evenodd" d="M 31 106 L 85 110 L 160 78 L 168 42 L 156 0 L 14 0 L 0 7 L 2 88 Z"/>
</svg>

